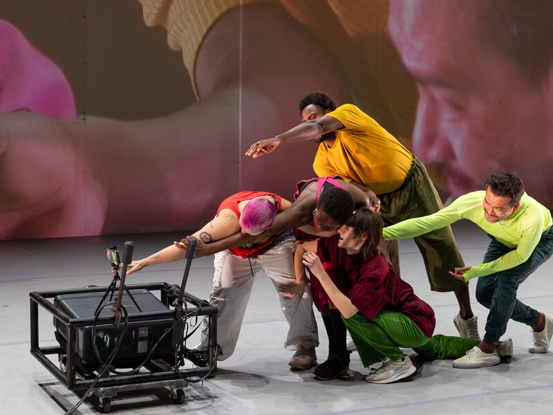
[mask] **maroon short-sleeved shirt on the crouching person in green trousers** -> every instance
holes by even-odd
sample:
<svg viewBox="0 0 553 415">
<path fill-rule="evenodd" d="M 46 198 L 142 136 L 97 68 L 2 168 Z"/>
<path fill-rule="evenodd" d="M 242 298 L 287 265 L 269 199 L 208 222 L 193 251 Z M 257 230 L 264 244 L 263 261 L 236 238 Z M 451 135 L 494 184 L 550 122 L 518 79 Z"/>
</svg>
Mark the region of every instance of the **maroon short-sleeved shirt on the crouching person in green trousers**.
<svg viewBox="0 0 553 415">
<path fill-rule="evenodd" d="M 359 313 L 373 320 L 383 308 L 396 311 L 409 317 L 422 333 L 432 337 L 436 322 L 431 306 L 397 277 L 393 266 L 376 249 L 374 256 L 367 259 L 361 254 L 347 255 L 345 249 L 338 248 L 338 235 L 335 235 L 319 239 L 317 255 L 332 281 L 351 299 Z"/>
</svg>

